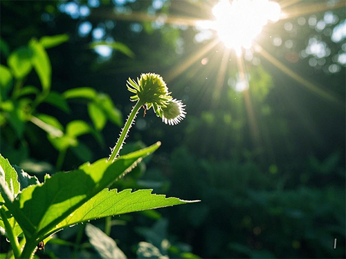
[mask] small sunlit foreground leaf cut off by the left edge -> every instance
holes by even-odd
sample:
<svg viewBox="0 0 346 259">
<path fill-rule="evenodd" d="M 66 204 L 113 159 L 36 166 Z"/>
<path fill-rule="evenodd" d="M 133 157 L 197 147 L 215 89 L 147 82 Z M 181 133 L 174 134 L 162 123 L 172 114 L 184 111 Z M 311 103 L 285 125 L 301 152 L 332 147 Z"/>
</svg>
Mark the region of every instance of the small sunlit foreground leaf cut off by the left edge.
<svg viewBox="0 0 346 259">
<path fill-rule="evenodd" d="M 9 194 L 11 195 L 12 199 L 17 196 L 19 193 L 19 182 L 17 181 L 17 172 L 15 169 L 11 166 L 10 162 L 8 162 L 7 159 L 5 159 L 0 154 L 0 181 L 3 182 L 4 186 L 7 186 L 9 191 Z M 3 202 L 3 196 L 2 191 L 0 195 L 0 202 Z"/>
</svg>

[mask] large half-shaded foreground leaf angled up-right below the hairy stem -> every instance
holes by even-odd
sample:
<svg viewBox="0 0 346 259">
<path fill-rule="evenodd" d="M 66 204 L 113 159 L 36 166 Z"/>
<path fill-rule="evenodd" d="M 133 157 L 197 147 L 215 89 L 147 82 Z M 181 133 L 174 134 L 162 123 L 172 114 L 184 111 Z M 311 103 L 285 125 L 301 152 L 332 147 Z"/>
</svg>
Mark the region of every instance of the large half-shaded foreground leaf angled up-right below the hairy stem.
<svg viewBox="0 0 346 259">
<path fill-rule="evenodd" d="M 24 189 L 12 204 L 11 212 L 26 236 L 44 238 L 58 230 L 58 224 L 144 157 L 158 148 L 156 143 L 111 163 L 101 159 L 83 164 L 78 170 L 55 173 L 44 184 Z"/>
</svg>

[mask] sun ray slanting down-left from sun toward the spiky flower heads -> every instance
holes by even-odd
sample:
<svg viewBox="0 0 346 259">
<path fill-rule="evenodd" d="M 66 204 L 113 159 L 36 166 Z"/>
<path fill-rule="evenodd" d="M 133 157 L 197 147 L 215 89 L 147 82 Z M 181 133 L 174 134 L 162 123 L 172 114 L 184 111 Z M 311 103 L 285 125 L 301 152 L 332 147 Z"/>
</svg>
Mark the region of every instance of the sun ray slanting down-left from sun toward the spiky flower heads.
<svg viewBox="0 0 346 259">
<path fill-rule="evenodd" d="M 210 41 L 206 46 L 201 48 L 198 52 L 193 53 L 192 55 L 188 56 L 185 61 L 182 63 L 179 62 L 178 65 L 176 65 L 172 70 L 170 71 L 169 75 L 166 77 L 166 81 L 172 81 L 174 78 L 178 77 L 183 73 L 186 69 L 188 69 L 194 62 L 196 62 L 198 59 L 201 59 L 203 55 L 206 55 L 212 48 L 214 48 L 219 43 L 219 39 L 214 39 Z"/>
</svg>

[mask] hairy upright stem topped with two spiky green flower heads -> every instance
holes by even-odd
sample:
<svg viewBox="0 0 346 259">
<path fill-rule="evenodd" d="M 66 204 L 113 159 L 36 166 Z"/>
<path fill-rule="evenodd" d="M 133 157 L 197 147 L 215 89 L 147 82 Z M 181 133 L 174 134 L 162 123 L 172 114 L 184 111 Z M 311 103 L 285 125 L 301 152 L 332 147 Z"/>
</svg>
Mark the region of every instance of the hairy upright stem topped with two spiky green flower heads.
<svg viewBox="0 0 346 259">
<path fill-rule="evenodd" d="M 145 106 L 147 110 L 153 108 L 156 115 L 163 119 L 165 124 L 178 124 L 185 117 L 185 105 L 176 99 L 172 99 L 167 85 L 161 75 L 154 73 L 147 73 L 140 75 L 137 78 L 137 82 L 129 78 L 127 80 L 127 90 L 134 93 L 130 97 L 131 101 L 137 102 L 134 108 L 132 108 L 129 117 L 125 123 L 124 128 L 120 133 L 120 137 L 116 146 L 111 150 L 109 160 L 113 161 L 118 157 L 118 153 L 124 144 L 129 128 L 131 128 L 134 119 L 142 106 Z"/>
</svg>

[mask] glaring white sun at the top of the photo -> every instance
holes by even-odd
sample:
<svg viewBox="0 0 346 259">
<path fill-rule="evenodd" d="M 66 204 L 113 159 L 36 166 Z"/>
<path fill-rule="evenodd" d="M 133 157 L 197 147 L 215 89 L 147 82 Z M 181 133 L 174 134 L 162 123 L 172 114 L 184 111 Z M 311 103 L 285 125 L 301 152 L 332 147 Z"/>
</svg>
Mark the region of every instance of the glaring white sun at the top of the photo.
<svg viewBox="0 0 346 259">
<path fill-rule="evenodd" d="M 281 8 L 268 0 L 221 0 L 212 8 L 214 29 L 227 48 L 237 53 L 251 48 L 253 39 L 260 34 L 268 21 L 280 19 Z"/>
</svg>

